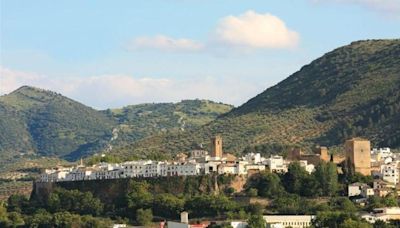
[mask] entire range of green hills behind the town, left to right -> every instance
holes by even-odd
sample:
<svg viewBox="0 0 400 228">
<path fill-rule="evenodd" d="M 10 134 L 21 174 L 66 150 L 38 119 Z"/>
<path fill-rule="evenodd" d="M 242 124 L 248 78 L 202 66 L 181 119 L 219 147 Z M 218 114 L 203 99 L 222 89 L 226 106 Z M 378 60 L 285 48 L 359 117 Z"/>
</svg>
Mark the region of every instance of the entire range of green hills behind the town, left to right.
<svg viewBox="0 0 400 228">
<path fill-rule="evenodd" d="M 123 159 L 166 159 L 224 136 L 231 153 L 285 154 L 341 145 L 352 136 L 400 146 L 400 40 L 366 40 L 329 52 L 242 106 L 210 101 L 96 111 L 22 87 L 0 98 L 0 154 L 76 159 L 111 150 Z M 226 114 L 224 114 L 226 113 Z M 217 118 L 218 117 L 218 118 Z M 385 129 L 381 131 L 380 129 Z"/>
</svg>

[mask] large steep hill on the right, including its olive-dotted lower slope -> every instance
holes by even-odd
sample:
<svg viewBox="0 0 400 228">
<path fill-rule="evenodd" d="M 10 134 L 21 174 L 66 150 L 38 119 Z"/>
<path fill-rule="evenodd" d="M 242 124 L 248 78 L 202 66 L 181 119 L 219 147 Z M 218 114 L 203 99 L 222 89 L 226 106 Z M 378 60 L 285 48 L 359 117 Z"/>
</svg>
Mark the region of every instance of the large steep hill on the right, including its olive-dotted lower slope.
<svg viewBox="0 0 400 228">
<path fill-rule="evenodd" d="M 352 136 L 400 147 L 400 40 L 365 40 L 335 49 L 200 129 L 115 148 L 152 156 L 207 145 L 273 153 L 291 146 L 337 147 Z"/>
</svg>

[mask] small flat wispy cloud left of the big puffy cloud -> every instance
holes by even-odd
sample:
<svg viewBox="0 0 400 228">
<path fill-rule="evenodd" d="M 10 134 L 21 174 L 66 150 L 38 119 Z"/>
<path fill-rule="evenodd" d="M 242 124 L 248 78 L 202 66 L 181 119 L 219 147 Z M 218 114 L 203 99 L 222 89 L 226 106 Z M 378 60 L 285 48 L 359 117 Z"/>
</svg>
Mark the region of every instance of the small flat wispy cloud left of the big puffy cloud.
<svg viewBox="0 0 400 228">
<path fill-rule="evenodd" d="M 199 42 L 190 39 L 174 39 L 164 35 L 154 37 L 138 37 L 127 47 L 129 50 L 157 49 L 162 51 L 198 51 L 203 48 Z"/>
</svg>

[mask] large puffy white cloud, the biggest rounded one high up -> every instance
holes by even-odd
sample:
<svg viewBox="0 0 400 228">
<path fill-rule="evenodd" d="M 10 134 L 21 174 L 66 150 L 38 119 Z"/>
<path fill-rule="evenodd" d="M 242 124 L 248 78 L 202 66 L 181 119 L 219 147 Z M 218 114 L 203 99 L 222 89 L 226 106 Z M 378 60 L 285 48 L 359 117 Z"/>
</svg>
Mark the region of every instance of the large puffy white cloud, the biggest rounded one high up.
<svg viewBox="0 0 400 228">
<path fill-rule="evenodd" d="M 214 32 L 218 43 L 247 48 L 292 48 L 299 42 L 297 32 L 278 17 L 247 11 L 223 18 Z"/>
</svg>

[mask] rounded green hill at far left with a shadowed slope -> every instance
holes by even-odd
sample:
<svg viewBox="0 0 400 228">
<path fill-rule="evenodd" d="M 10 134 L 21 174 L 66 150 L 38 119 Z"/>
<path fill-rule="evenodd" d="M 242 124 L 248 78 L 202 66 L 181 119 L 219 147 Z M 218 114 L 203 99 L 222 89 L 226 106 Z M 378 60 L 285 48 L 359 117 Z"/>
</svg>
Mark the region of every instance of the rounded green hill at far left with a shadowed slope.
<svg viewBox="0 0 400 228">
<path fill-rule="evenodd" d="M 101 148 L 113 121 L 60 94 L 24 86 L 0 97 L 1 154 L 71 156 Z M 3 130 L 4 129 L 4 130 Z"/>
</svg>

